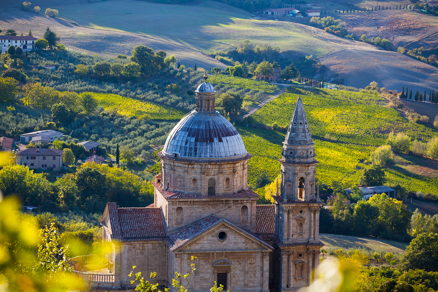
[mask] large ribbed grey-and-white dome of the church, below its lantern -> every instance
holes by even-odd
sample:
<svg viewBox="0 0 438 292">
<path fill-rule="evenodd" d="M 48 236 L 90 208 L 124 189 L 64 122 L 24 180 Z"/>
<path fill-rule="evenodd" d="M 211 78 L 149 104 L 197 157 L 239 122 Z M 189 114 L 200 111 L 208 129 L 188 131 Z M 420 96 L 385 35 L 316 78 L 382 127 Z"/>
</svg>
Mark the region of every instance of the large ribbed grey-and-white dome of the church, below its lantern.
<svg viewBox="0 0 438 292">
<path fill-rule="evenodd" d="M 216 110 L 192 110 L 183 117 L 167 137 L 162 153 L 189 159 L 237 158 L 247 154 L 237 129 Z"/>
</svg>

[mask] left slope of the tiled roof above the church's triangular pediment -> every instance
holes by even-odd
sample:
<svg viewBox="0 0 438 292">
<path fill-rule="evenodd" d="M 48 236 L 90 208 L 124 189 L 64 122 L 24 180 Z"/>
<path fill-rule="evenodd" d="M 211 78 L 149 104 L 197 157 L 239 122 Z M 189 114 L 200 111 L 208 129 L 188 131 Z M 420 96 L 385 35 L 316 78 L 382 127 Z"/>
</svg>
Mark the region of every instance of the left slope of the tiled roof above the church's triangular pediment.
<svg viewBox="0 0 438 292">
<path fill-rule="evenodd" d="M 184 226 L 179 231 L 169 235 L 170 240 L 172 240 L 173 242 L 173 246 L 170 248 L 170 250 L 174 251 L 175 249 L 182 246 L 185 242 L 197 237 L 207 229 L 219 223 L 221 220 L 222 219 L 219 219 L 217 217 L 209 216 L 207 218 Z"/>
</svg>

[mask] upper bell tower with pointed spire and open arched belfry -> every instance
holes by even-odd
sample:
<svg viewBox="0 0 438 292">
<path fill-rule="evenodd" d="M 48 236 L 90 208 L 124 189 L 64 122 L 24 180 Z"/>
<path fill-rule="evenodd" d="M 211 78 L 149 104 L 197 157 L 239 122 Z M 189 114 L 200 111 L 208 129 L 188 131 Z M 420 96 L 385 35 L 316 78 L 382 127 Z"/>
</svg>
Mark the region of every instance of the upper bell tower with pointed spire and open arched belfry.
<svg viewBox="0 0 438 292">
<path fill-rule="evenodd" d="M 281 196 L 284 200 L 315 199 L 315 149 L 301 95 L 298 97 L 281 152 Z"/>
</svg>

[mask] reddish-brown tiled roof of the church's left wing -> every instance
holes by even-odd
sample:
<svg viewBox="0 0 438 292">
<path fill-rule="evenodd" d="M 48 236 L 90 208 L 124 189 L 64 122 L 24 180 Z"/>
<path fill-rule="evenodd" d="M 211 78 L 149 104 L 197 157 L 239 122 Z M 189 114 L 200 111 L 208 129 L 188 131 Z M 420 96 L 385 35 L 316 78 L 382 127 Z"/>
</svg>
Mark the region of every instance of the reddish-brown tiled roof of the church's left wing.
<svg viewBox="0 0 438 292">
<path fill-rule="evenodd" d="M 165 239 L 161 208 L 117 208 L 113 202 L 107 206 L 112 238 L 120 241 Z"/>
</svg>

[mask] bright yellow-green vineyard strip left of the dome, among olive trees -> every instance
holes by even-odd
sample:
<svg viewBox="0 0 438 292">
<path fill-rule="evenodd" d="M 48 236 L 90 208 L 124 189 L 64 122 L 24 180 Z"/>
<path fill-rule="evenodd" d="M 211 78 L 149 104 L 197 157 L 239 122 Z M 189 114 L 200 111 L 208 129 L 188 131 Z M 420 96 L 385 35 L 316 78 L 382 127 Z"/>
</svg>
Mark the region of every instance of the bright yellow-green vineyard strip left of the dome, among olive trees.
<svg viewBox="0 0 438 292">
<path fill-rule="evenodd" d="M 180 110 L 146 101 L 110 93 L 89 93 L 97 100 L 98 106 L 103 107 L 105 110 L 117 110 L 121 115 L 125 116 L 143 117 L 150 120 L 179 120 L 184 116 L 184 113 Z"/>
</svg>

